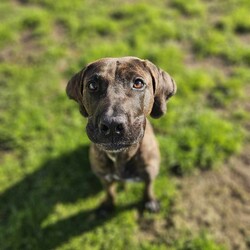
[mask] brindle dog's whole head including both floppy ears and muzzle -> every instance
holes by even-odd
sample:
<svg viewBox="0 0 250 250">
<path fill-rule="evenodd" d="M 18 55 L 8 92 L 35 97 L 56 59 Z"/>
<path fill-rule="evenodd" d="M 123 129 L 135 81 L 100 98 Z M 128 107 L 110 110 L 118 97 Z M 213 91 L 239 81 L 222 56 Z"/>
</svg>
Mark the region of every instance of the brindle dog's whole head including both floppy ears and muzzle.
<svg viewBox="0 0 250 250">
<path fill-rule="evenodd" d="M 104 58 L 69 81 L 67 94 L 88 118 L 89 139 L 106 151 L 121 151 L 144 135 L 146 116 L 166 112 L 175 82 L 149 61 L 136 57 Z"/>
</svg>

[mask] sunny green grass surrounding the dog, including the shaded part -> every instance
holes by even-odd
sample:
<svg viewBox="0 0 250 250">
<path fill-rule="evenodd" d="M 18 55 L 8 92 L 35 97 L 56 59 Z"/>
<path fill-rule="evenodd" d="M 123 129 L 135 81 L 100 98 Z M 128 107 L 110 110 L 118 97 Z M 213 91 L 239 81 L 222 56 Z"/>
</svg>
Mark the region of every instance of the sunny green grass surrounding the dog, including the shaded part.
<svg viewBox="0 0 250 250">
<path fill-rule="evenodd" d="M 247 9 L 244 0 L 1 1 L 0 249 L 223 249 L 206 233 L 167 241 L 166 229 L 146 237 L 141 225 L 171 216 L 173 174 L 219 167 L 243 146 L 249 116 L 230 110 L 250 80 Z M 138 215 L 138 184 L 98 219 L 103 191 L 89 167 L 86 120 L 65 86 L 85 64 L 125 55 L 153 61 L 178 85 L 168 114 L 152 120 L 162 212 Z"/>
</svg>

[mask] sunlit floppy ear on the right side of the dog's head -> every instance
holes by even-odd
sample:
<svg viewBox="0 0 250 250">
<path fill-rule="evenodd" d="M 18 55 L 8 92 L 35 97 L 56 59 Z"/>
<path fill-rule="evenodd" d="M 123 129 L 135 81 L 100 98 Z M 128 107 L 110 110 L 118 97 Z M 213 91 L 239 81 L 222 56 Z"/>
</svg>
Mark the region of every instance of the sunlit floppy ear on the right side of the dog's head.
<svg viewBox="0 0 250 250">
<path fill-rule="evenodd" d="M 176 83 L 167 72 L 150 61 L 146 60 L 145 63 L 151 74 L 154 89 L 154 104 L 150 115 L 159 118 L 166 113 L 167 100 L 176 93 Z"/>
</svg>

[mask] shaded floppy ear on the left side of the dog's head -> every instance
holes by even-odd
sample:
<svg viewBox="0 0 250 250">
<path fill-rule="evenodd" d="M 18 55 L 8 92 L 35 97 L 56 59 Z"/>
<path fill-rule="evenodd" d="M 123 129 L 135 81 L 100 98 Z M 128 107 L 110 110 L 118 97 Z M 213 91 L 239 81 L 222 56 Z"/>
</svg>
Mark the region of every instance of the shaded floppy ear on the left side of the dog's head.
<svg viewBox="0 0 250 250">
<path fill-rule="evenodd" d="M 75 74 L 68 82 L 66 93 L 70 99 L 75 100 L 80 106 L 80 112 L 83 116 L 88 117 L 88 113 L 83 105 L 83 78 L 85 69 Z"/>
</svg>

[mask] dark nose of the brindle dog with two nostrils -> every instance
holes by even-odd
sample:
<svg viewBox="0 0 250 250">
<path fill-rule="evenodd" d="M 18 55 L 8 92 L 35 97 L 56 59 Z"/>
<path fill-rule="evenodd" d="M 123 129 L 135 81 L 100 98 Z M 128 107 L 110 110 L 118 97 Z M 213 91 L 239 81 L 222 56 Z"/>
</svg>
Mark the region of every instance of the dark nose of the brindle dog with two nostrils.
<svg viewBox="0 0 250 250">
<path fill-rule="evenodd" d="M 99 131 L 105 135 L 122 135 L 125 130 L 123 117 L 104 117 L 99 124 Z"/>
</svg>

